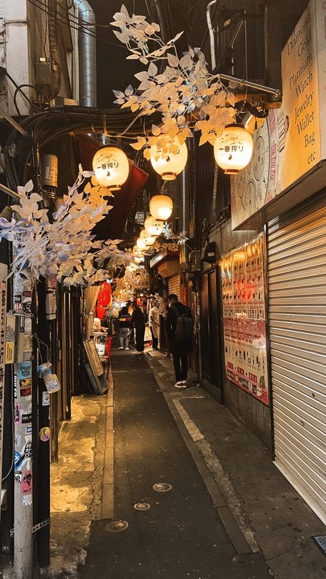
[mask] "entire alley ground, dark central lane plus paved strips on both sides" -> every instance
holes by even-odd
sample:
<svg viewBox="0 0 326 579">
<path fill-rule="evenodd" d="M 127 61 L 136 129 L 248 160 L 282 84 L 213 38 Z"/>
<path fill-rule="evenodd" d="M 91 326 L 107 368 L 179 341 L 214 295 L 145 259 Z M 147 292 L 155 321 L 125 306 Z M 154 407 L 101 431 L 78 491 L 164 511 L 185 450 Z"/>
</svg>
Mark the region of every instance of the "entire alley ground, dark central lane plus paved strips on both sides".
<svg viewBox="0 0 326 579">
<path fill-rule="evenodd" d="M 74 398 L 61 429 L 52 564 L 35 577 L 326 576 L 312 540 L 325 525 L 257 437 L 197 382 L 175 389 L 160 353 L 115 351 L 112 369 L 109 395 Z M 154 483 L 172 488 L 155 492 Z M 128 527 L 112 532 L 113 521 Z"/>
</svg>

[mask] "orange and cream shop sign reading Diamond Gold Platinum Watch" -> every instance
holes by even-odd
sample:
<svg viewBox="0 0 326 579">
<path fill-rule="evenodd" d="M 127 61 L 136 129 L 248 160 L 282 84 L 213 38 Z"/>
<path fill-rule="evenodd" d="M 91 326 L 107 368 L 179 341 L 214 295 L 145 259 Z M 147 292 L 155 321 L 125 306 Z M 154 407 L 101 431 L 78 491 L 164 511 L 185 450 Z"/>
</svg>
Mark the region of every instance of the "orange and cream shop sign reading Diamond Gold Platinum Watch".
<svg viewBox="0 0 326 579">
<path fill-rule="evenodd" d="M 252 161 L 231 179 L 232 228 L 326 157 L 326 2 L 311 0 L 282 51 L 280 109 L 254 133 Z"/>
</svg>

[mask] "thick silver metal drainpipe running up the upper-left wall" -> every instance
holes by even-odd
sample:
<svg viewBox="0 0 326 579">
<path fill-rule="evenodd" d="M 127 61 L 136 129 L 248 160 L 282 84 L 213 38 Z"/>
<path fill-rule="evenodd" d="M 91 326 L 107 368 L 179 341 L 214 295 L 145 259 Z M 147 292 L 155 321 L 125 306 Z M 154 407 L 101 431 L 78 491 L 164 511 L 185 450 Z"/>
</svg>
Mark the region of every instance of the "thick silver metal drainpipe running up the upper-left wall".
<svg viewBox="0 0 326 579">
<path fill-rule="evenodd" d="M 78 24 L 79 104 L 96 107 L 95 13 L 87 0 L 76 0 Z M 87 29 L 87 30 L 85 30 Z"/>
</svg>

